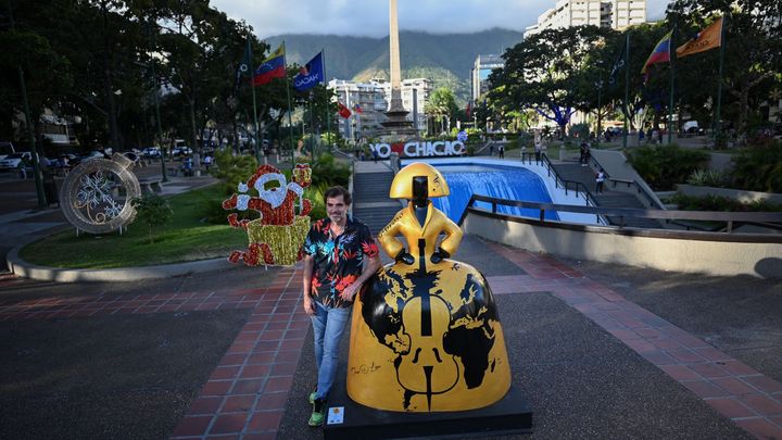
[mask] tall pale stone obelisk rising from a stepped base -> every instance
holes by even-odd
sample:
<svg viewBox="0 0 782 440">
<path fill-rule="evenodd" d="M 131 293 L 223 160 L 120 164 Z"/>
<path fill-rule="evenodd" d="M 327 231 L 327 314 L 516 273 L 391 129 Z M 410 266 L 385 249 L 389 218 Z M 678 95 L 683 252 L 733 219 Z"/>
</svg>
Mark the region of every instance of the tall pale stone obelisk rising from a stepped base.
<svg viewBox="0 0 782 440">
<path fill-rule="evenodd" d="M 407 111 L 402 104 L 402 68 L 399 54 L 399 23 L 396 21 L 396 0 L 389 0 L 389 52 L 391 55 L 391 104 L 386 112 L 388 121 L 381 123 L 387 135 L 411 136 L 415 134 L 413 123 L 407 121 Z"/>
</svg>

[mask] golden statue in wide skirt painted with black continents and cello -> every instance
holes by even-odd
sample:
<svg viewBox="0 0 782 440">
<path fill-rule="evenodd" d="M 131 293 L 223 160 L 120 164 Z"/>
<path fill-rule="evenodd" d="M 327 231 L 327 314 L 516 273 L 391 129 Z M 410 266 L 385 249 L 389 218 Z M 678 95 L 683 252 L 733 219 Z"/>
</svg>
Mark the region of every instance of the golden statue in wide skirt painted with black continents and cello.
<svg viewBox="0 0 782 440">
<path fill-rule="evenodd" d="M 429 200 L 447 194 L 442 174 L 425 163 L 407 165 L 391 184 L 391 198 L 411 200 L 378 234 L 396 262 L 368 280 L 351 327 L 348 394 L 363 405 L 466 411 L 500 401 L 510 387 L 489 284 L 450 259 L 462 230 Z"/>
</svg>

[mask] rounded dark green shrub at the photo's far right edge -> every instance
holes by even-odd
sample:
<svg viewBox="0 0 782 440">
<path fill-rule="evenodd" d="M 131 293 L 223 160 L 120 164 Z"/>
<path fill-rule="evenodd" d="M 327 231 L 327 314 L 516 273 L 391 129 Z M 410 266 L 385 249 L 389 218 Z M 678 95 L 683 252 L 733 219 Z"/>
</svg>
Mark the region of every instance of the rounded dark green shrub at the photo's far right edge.
<svg viewBox="0 0 782 440">
<path fill-rule="evenodd" d="M 782 141 L 742 149 L 733 164 L 732 177 L 739 188 L 782 192 Z"/>
</svg>

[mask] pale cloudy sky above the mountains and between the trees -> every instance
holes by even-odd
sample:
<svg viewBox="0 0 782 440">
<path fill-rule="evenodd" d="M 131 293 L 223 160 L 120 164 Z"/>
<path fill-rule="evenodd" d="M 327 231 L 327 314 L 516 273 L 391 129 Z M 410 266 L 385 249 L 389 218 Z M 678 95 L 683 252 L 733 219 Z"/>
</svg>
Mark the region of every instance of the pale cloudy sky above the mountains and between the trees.
<svg viewBox="0 0 782 440">
<path fill-rule="evenodd" d="M 659 20 L 669 0 L 646 0 L 646 18 Z M 401 30 L 458 34 L 502 27 L 524 32 L 556 0 L 398 0 Z M 261 38 L 281 34 L 384 37 L 388 0 L 212 0 Z"/>
</svg>

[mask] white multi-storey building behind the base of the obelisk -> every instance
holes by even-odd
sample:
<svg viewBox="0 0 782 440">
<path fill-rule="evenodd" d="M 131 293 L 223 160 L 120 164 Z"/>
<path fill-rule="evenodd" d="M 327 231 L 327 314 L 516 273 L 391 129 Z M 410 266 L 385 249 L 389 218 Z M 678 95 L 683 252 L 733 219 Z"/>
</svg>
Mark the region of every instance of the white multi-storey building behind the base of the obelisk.
<svg viewBox="0 0 782 440">
<path fill-rule="evenodd" d="M 386 121 L 386 111 L 391 102 L 391 83 L 386 79 L 374 78 L 369 83 L 356 83 L 346 79 L 331 79 L 327 86 L 335 90 L 339 102 L 351 111 L 351 117 L 338 117 L 339 130 L 346 139 L 375 137 L 382 130 Z M 409 113 L 407 120 L 413 121 L 413 96 L 417 99 L 417 128 L 426 129 L 427 116 L 424 106 L 429 101 L 432 83 L 427 78 L 402 80 L 402 105 Z"/>
</svg>

